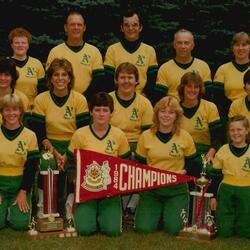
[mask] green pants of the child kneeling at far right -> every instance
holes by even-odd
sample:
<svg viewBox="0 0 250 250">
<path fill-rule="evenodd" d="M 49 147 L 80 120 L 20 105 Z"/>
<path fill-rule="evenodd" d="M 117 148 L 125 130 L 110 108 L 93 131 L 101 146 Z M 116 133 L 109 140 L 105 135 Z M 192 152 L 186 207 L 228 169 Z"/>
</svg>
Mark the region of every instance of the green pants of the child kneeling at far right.
<svg viewBox="0 0 250 250">
<path fill-rule="evenodd" d="M 221 183 L 216 210 L 219 237 L 250 237 L 250 187 Z"/>
</svg>

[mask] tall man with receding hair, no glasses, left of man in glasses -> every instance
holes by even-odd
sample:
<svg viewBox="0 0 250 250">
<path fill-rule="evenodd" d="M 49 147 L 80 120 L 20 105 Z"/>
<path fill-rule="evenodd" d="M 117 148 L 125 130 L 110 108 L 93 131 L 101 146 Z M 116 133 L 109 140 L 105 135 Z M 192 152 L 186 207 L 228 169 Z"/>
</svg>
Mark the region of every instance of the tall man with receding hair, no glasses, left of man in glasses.
<svg viewBox="0 0 250 250">
<path fill-rule="evenodd" d="M 86 23 L 81 13 L 70 12 L 64 24 L 64 30 L 67 41 L 52 48 L 46 69 L 56 57 L 70 61 L 75 75 L 74 90 L 89 99 L 102 84 L 104 76 L 102 55 L 97 47 L 84 41 Z"/>
</svg>

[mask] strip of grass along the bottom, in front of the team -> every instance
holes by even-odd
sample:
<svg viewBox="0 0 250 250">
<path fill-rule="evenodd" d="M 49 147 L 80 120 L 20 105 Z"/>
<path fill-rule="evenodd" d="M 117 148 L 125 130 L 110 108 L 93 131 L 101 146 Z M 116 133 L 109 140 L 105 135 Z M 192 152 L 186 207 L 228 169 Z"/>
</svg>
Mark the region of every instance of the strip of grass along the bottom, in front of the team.
<svg viewBox="0 0 250 250">
<path fill-rule="evenodd" d="M 9 228 L 0 231 L 0 249 L 34 250 L 249 250 L 250 240 L 240 238 L 215 239 L 211 243 L 197 243 L 178 240 L 164 232 L 142 235 L 127 226 L 120 237 L 112 238 L 101 234 L 77 238 L 50 238 L 31 240 L 27 233 L 15 232 Z"/>
</svg>

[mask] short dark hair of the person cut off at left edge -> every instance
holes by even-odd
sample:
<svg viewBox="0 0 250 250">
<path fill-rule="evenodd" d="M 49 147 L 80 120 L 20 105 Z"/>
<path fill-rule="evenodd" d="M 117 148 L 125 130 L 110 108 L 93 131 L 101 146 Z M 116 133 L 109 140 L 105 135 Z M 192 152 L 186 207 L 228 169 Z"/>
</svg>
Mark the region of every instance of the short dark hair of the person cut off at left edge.
<svg viewBox="0 0 250 250">
<path fill-rule="evenodd" d="M 12 58 L 0 58 L 0 73 L 9 73 L 11 75 L 12 81 L 10 83 L 10 87 L 14 90 L 19 73 L 16 69 L 15 61 Z"/>
</svg>

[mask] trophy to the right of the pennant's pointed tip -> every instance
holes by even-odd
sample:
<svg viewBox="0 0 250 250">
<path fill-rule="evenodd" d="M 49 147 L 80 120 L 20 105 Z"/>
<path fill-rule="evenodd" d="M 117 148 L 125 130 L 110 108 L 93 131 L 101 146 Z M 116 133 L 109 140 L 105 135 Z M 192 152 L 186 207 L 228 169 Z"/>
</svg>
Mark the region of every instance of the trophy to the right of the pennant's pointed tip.
<svg viewBox="0 0 250 250">
<path fill-rule="evenodd" d="M 192 191 L 193 211 L 191 223 L 189 223 L 188 212 L 185 209 L 181 211 L 183 229 L 179 232 L 179 239 L 210 241 L 216 236 L 214 225 L 214 216 L 211 214 L 210 199 L 212 193 L 207 193 L 207 188 L 211 181 L 206 178 L 207 161 L 204 155 L 201 155 L 203 161 L 200 177 L 195 180 L 195 185 L 199 191 Z M 191 224 L 191 225 L 190 225 Z"/>
</svg>

